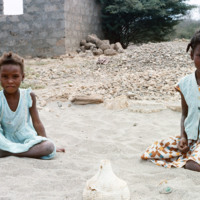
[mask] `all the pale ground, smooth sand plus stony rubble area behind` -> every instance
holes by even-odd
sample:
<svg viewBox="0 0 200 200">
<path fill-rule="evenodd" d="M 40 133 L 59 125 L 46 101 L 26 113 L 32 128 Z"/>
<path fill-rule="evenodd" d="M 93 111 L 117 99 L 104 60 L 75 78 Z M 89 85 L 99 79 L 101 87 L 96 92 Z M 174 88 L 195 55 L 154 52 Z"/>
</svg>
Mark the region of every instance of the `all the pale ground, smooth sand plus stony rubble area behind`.
<svg viewBox="0 0 200 200">
<path fill-rule="evenodd" d="M 33 88 L 47 135 L 66 153 L 49 161 L 1 158 L 0 200 L 81 200 L 102 159 L 109 159 L 115 174 L 127 182 L 132 200 L 200 199 L 197 172 L 140 159 L 155 140 L 180 134 L 181 113 L 171 109 L 180 111 L 174 85 L 194 70 L 186 44 L 133 46 L 100 65 L 99 58 L 87 56 L 28 60 L 24 87 Z M 124 99 L 127 92 L 132 100 Z M 69 106 L 72 95 L 93 93 L 106 101 L 120 97 L 123 110 L 103 104 Z M 159 193 L 163 180 L 172 193 Z"/>
</svg>

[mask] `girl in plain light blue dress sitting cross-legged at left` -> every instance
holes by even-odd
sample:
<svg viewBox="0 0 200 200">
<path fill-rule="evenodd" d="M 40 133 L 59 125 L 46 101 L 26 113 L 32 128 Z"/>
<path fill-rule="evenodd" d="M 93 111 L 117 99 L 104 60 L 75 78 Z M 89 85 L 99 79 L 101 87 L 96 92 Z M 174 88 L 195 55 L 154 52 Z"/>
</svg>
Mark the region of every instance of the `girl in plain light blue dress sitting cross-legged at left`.
<svg viewBox="0 0 200 200">
<path fill-rule="evenodd" d="M 55 145 L 47 139 L 35 94 L 19 88 L 23 79 L 23 59 L 12 52 L 4 53 L 0 58 L 0 157 L 51 159 Z"/>
</svg>

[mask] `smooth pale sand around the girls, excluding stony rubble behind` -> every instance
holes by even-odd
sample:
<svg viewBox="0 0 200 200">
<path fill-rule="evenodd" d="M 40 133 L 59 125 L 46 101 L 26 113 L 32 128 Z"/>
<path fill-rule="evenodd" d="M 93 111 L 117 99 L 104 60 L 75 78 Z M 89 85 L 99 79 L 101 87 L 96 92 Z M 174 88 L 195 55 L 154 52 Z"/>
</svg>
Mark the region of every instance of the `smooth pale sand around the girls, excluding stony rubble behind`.
<svg viewBox="0 0 200 200">
<path fill-rule="evenodd" d="M 40 116 L 48 136 L 66 153 L 49 161 L 1 158 L 1 200 L 81 200 L 102 159 L 109 159 L 115 174 L 127 181 L 132 200 L 199 199 L 198 173 L 140 160 L 153 141 L 179 134 L 180 112 L 134 113 L 102 104 L 68 107 L 66 102 L 58 107 L 52 102 Z M 159 193 L 163 180 L 172 193 Z"/>
</svg>

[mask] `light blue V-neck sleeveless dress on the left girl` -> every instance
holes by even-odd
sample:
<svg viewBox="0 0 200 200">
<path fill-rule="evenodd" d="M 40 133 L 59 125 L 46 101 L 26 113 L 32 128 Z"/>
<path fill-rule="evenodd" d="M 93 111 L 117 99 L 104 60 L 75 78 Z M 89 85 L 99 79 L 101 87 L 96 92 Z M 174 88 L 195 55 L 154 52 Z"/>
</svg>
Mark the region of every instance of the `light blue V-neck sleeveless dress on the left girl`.
<svg viewBox="0 0 200 200">
<path fill-rule="evenodd" d="M 31 89 L 19 91 L 20 98 L 15 112 L 10 109 L 3 90 L 0 91 L 0 149 L 11 153 L 26 152 L 35 144 L 49 140 L 38 136 L 33 127 L 29 112 L 32 107 Z M 41 159 L 51 159 L 55 154 L 56 148 L 53 153 Z"/>
</svg>

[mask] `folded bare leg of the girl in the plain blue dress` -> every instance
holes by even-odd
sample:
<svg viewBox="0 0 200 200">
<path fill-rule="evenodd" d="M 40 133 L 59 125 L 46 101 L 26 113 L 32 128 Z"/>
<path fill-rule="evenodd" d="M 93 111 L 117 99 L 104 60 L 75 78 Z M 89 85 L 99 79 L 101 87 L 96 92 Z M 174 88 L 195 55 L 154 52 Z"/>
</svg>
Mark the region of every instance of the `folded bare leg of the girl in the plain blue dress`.
<svg viewBox="0 0 200 200">
<path fill-rule="evenodd" d="M 27 152 L 24 153 L 10 153 L 0 150 L 0 157 L 6 156 L 17 156 L 17 157 L 29 157 L 29 158 L 40 158 L 47 156 L 54 151 L 54 145 L 50 141 L 44 141 L 31 147 Z"/>
</svg>

